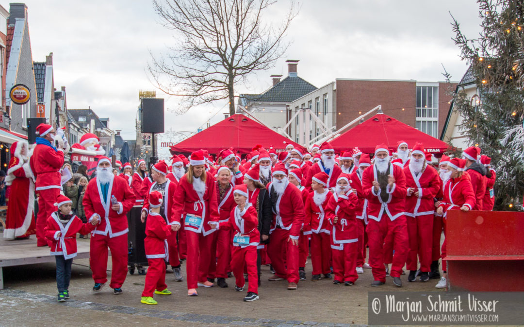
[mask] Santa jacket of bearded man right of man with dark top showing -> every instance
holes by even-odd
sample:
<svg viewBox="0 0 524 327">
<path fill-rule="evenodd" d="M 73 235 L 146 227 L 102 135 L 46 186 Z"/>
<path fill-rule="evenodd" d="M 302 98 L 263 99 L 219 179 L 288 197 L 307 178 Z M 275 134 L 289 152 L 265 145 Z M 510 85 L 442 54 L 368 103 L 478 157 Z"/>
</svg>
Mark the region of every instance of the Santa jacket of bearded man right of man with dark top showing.
<svg viewBox="0 0 524 327">
<path fill-rule="evenodd" d="M 440 184 L 439 176 L 435 168 L 425 165 L 424 170 L 418 176 L 411 170 L 409 165 L 404 166 L 404 175 L 406 176 L 406 216 L 418 217 L 424 215 L 433 215 L 435 205 L 433 199 L 439 193 Z M 414 188 L 413 193 L 407 194 L 408 188 Z M 415 196 L 415 192 L 419 196 Z"/>
</svg>

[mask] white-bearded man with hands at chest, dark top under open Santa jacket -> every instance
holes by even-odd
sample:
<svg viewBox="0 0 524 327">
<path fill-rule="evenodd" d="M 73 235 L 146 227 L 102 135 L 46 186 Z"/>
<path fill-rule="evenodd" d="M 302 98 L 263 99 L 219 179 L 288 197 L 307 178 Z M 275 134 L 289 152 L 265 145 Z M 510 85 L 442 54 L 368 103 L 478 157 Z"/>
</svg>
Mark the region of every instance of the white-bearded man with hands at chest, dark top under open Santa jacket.
<svg viewBox="0 0 524 327">
<path fill-rule="evenodd" d="M 400 275 L 408 255 L 408 230 L 404 216 L 406 199 L 406 177 L 402 168 L 389 162 L 387 145 L 375 148 L 375 161 L 366 168 L 362 176 L 362 193 L 368 199 L 367 225 L 369 265 L 374 281 L 371 286 L 386 283 L 384 266 L 384 239 L 391 233 L 395 255 L 390 275 L 393 284 L 402 286 Z"/>
</svg>

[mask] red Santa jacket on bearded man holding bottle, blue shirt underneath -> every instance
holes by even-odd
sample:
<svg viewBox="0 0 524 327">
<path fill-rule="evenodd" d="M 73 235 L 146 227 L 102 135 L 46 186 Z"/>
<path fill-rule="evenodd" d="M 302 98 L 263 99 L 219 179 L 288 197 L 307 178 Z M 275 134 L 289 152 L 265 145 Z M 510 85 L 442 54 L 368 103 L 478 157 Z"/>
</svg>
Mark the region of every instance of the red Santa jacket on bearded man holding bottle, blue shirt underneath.
<svg viewBox="0 0 524 327">
<path fill-rule="evenodd" d="M 120 209 L 111 209 L 111 196 L 114 195 Z M 127 212 L 135 205 L 135 195 L 123 178 L 112 177 L 107 190 L 107 198 L 102 198 L 102 189 L 98 178 L 93 178 L 86 186 L 84 200 L 85 217 L 88 221 L 94 216 L 100 216 L 100 223 L 93 233 L 109 235 L 110 238 L 124 235 L 127 228 Z"/>
</svg>

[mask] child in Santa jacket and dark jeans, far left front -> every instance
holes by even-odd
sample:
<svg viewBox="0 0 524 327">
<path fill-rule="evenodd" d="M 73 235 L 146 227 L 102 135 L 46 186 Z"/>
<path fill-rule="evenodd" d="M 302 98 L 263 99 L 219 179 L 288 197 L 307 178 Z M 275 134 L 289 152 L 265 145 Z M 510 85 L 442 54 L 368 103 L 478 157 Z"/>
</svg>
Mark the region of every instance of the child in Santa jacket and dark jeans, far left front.
<svg viewBox="0 0 524 327">
<path fill-rule="evenodd" d="M 59 195 L 56 206 L 58 211 L 51 213 L 44 229 L 46 238 L 51 242 L 51 255 L 57 263 L 58 302 L 69 299 L 69 281 L 71 280 L 71 265 L 77 256 L 77 233 L 91 232 L 99 222 L 93 218 L 90 223 L 82 220 L 71 212 L 71 201 L 64 195 Z"/>
</svg>

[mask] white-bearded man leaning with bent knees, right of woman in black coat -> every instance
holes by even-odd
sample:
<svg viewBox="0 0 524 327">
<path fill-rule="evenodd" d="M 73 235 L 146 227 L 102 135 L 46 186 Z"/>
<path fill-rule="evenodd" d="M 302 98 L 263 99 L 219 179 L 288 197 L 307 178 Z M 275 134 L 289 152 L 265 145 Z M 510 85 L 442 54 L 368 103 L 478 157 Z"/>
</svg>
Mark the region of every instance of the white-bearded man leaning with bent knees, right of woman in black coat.
<svg viewBox="0 0 524 327">
<path fill-rule="evenodd" d="M 268 255 L 275 274 L 269 281 L 287 279 L 288 289 L 298 288 L 299 235 L 304 223 L 304 204 L 300 190 L 289 183 L 287 170 L 277 164 L 272 172 L 273 181 L 267 186 L 273 211 Z"/>
</svg>

